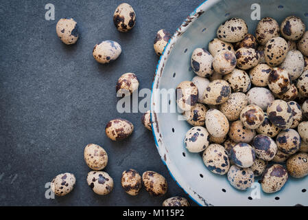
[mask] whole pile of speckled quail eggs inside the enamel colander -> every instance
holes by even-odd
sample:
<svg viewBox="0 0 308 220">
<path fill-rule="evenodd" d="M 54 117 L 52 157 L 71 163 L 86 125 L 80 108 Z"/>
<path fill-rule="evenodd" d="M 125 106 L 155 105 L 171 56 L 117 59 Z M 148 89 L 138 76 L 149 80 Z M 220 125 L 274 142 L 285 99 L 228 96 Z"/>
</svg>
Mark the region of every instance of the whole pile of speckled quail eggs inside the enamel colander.
<svg viewBox="0 0 308 220">
<path fill-rule="evenodd" d="M 208 170 L 246 190 L 261 177 L 277 192 L 289 176 L 308 175 L 308 31 L 296 16 L 270 17 L 248 33 L 243 19 L 217 29 L 196 48 L 197 76 L 176 87 L 176 102 L 193 127 L 187 151 L 202 154 Z"/>
</svg>

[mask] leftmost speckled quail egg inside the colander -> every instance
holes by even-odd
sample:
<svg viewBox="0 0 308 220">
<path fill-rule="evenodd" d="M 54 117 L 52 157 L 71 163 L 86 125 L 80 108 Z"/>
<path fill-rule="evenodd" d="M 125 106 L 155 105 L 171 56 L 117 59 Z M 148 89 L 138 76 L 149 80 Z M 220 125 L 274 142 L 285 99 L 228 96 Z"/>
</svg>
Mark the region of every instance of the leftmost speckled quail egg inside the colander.
<svg viewBox="0 0 308 220">
<path fill-rule="evenodd" d="M 176 87 L 176 103 L 183 111 L 189 111 L 198 100 L 198 88 L 191 81 L 183 81 Z"/>
</svg>

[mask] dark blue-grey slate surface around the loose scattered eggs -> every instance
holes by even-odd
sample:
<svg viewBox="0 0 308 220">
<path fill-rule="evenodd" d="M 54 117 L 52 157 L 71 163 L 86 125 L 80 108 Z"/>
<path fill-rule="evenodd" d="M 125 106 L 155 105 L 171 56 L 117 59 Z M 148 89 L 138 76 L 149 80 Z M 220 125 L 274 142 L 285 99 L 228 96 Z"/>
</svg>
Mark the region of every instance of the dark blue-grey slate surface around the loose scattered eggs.
<svg viewBox="0 0 308 220">
<path fill-rule="evenodd" d="M 174 33 L 202 1 L 126 2 L 137 14 L 128 33 L 118 32 L 112 22 L 122 1 L 0 2 L 0 206 L 161 206 L 168 197 L 187 197 L 161 162 L 152 133 L 141 124 L 142 113 L 117 112 L 115 84 L 121 74 L 134 72 L 139 88 L 150 88 L 158 62 L 156 32 Z M 55 5 L 54 21 L 45 20 L 47 3 Z M 64 45 L 56 35 L 62 17 L 78 22 L 81 35 L 75 45 Z M 120 43 L 122 54 L 102 65 L 92 50 L 108 39 Z M 104 133 L 108 120 L 117 117 L 135 126 L 123 142 L 112 142 Z M 108 153 L 104 170 L 115 181 L 110 195 L 95 195 L 86 184 L 90 169 L 83 151 L 88 143 Z M 143 188 L 136 197 L 127 195 L 120 179 L 128 168 L 161 173 L 169 184 L 167 194 L 151 197 Z M 45 199 L 45 183 L 64 172 L 75 174 L 75 189 Z"/>
</svg>

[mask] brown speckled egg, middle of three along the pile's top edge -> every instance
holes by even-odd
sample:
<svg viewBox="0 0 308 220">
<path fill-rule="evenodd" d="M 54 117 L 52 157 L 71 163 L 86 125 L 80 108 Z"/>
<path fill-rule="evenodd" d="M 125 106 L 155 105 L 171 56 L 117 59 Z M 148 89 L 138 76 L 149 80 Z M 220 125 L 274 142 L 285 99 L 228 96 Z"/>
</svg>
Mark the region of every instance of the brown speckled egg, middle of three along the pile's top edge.
<svg viewBox="0 0 308 220">
<path fill-rule="evenodd" d="M 261 19 L 256 28 L 256 38 L 261 45 L 268 43 L 268 40 L 279 36 L 280 28 L 275 19 L 265 17 Z"/>
</svg>

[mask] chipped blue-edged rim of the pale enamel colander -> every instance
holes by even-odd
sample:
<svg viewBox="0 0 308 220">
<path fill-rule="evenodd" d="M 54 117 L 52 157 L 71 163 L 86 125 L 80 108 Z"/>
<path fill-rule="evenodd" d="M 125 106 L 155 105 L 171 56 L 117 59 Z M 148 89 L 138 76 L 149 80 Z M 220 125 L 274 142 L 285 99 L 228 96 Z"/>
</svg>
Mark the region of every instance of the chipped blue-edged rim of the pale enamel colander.
<svg viewBox="0 0 308 220">
<path fill-rule="evenodd" d="M 206 1 L 211 1 L 211 0 L 206 0 Z M 200 10 L 200 8 L 202 8 L 202 6 L 204 5 L 204 3 L 206 3 L 206 1 L 203 1 L 193 12 L 191 12 L 191 14 L 189 14 L 189 17 L 193 17 L 197 12 L 198 10 Z M 193 21 L 196 21 L 196 17 L 193 18 Z M 186 20 L 185 20 L 186 21 Z M 182 25 L 185 23 L 185 21 L 182 23 Z M 193 23 L 193 21 L 191 23 Z M 180 28 L 182 28 L 182 25 L 180 25 Z M 177 31 L 180 31 L 180 28 L 177 29 Z M 166 52 L 166 48 L 168 47 L 168 45 L 170 44 L 171 40 L 176 38 L 176 32 L 174 33 L 174 35 L 171 37 L 171 39 L 169 39 L 167 45 L 165 46 L 165 49 L 163 51 L 163 54 L 161 55 L 161 57 L 159 58 L 158 60 L 158 64 L 156 65 L 156 70 L 155 70 L 155 77 L 154 77 L 154 80 L 152 82 L 152 90 L 151 90 L 151 107 L 150 107 L 150 119 L 151 119 L 151 122 L 153 122 L 152 120 L 152 98 L 153 98 L 153 90 L 154 90 L 154 84 L 155 84 L 155 81 L 156 81 L 156 78 L 158 77 L 158 67 L 159 65 L 161 64 L 162 62 L 162 58 Z M 151 124 L 152 126 L 152 133 L 153 133 L 153 136 L 154 136 L 154 141 L 155 141 L 155 146 L 157 148 L 157 150 L 159 149 L 159 146 L 158 146 L 158 142 L 157 142 L 157 138 L 156 138 L 156 134 L 155 134 L 155 131 L 154 131 L 154 127 L 153 127 L 153 124 Z M 159 151 L 158 151 L 159 153 Z M 176 184 L 178 184 L 178 186 L 180 186 L 180 184 L 178 183 L 178 181 L 176 180 L 176 178 L 174 178 L 174 175 L 172 175 L 171 171 L 169 170 L 169 167 L 167 166 L 167 164 L 165 163 L 165 161 L 163 160 L 163 158 L 161 157 L 161 160 L 163 162 L 163 164 L 165 164 L 165 166 L 167 167 L 168 171 L 169 171 L 169 174 L 171 175 L 172 179 L 174 179 L 174 181 L 176 181 Z M 182 187 L 180 186 L 180 188 L 182 188 L 182 190 L 184 190 L 184 192 L 189 195 L 189 193 Z M 189 195 L 189 197 L 194 201 L 196 202 L 199 206 L 202 206 L 198 201 L 196 201 L 196 199 L 194 199 L 193 197 L 191 197 L 191 195 Z"/>
</svg>

